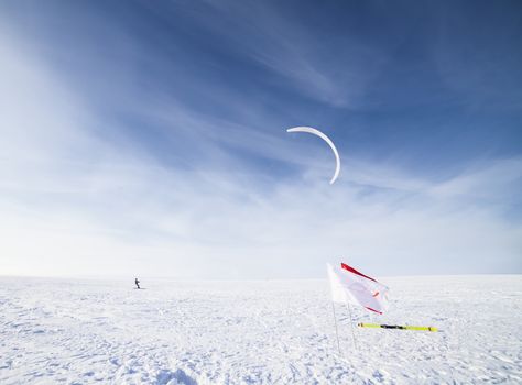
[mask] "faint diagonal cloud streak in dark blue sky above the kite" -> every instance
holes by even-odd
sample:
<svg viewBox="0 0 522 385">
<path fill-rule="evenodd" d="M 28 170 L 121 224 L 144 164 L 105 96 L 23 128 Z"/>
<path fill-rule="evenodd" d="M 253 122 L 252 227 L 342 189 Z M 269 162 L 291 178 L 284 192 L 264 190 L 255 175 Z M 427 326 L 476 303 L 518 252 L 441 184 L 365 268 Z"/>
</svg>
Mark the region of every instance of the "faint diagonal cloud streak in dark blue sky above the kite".
<svg viewBox="0 0 522 385">
<path fill-rule="evenodd" d="M 210 31 L 218 44 L 276 75 L 271 80 L 274 84 L 283 81 L 302 96 L 326 105 L 359 106 L 369 82 L 387 62 L 381 52 L 349 36 L 337 42 L 342 51 L 329 50 L 327 36 L 296 22 L 295 12 L 285 12 L 274 3 L 207 2 L 202 8 L 189 15 Z"/>
</svg>

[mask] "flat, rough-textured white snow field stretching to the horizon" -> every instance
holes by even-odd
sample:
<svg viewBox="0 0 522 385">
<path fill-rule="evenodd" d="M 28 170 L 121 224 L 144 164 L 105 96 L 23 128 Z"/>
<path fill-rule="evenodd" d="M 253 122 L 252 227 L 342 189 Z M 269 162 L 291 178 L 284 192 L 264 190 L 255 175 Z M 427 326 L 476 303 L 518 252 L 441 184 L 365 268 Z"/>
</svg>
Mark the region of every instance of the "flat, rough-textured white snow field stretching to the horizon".
<svg viewBox="0 0 522 385">
<path fill-rule="evenodd" d="M 522 276 L 382 278 L 387 315 L 358 321 L 326 280 L 0 277 L 0 384 L 522 383 Z"/>
</svg>

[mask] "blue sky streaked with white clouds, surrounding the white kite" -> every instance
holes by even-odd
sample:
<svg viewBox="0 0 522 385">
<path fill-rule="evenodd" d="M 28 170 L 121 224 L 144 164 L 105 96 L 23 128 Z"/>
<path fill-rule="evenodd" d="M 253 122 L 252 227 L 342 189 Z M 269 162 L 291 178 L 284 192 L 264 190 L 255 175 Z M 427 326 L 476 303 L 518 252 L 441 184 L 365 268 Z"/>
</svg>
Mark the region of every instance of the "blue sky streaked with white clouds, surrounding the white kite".
<svg viewBox="0 0 522 385">
<path fill-rule="evenodd" d="M 521 41 L 519 1 L 2 1 L 0 274 L 521 273 Z"/>
</svg>

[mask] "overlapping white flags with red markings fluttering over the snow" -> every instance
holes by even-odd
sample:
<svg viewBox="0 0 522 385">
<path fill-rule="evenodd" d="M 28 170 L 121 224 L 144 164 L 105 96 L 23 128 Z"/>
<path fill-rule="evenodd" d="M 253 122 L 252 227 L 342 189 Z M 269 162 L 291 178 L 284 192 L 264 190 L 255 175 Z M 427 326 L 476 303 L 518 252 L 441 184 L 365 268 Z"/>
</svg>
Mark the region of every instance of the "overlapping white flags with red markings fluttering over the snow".
<svg viewBox="0 0 522 385">
<path fill-rule="evenodd" d="M 360 305 L 380 315 L 388 310 L 387 286 L 347 264 L 341 263 L 340 267 L 327 266 L 333 301 Z"/>
</svg>

